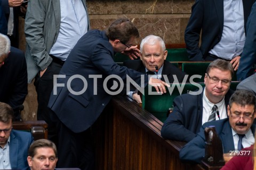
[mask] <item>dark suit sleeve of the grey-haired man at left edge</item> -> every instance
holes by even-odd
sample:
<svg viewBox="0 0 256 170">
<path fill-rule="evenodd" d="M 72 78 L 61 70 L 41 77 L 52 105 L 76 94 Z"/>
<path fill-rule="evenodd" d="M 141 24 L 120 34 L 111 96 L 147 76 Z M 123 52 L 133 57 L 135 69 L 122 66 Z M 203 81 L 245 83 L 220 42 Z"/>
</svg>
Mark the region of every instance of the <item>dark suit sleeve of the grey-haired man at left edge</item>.
<svg viewBox="0 0 256 170">
<path fill-rule="evenodd" d="M 18 54 L 18 58 L 21 58 L 19 64 L 21 66 L 18 77 L 15 78 L 15 85 L 13 86 L 12 95 L 9 99 L 9 104 L 15 110 L 20 106 L 28 94 L 28 74 L 27 74 L 27 64 L 23 52 Z"/>
</svg>

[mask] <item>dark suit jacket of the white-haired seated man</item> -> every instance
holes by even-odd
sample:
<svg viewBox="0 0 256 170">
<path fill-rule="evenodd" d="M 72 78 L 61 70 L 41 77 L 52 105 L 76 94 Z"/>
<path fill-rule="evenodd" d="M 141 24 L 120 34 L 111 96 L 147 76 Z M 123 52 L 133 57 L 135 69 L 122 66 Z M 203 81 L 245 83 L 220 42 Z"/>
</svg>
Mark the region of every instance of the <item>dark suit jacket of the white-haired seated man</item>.
<svg viewBox="0 0 256 170">
<path fill-rule="evenodd" d="M 126 60 L 124 61 L 124 66 L 127 68 L 142 72 L 143 74 L 146 74 L 145 66 L 143 65 L 141 60 Z M 176 75 L 178 78 L 179 83 L 182 83 L 184 76 L 186 75 L 185 72 L 181 71 L 177 67 L 173 66 L 168 61 L 164 61 L 163 71 L 162 75 L 166 75 L 169 79 L 169 83 L 174 82 L 173 75 Z M 161 78 L 162 81 L 164 80 L 164 77 Z M 185 81 L 187 82 L 187 81 Z"/>
</svg>

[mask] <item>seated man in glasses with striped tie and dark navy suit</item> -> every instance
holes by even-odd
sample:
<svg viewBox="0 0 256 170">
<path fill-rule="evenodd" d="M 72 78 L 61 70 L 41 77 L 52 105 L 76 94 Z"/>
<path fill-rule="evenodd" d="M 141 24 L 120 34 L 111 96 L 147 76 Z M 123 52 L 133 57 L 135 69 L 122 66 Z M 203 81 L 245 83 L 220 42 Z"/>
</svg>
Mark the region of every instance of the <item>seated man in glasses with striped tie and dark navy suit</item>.
<svg viewBox="0 0 256 170">
<path fill-rule="evenodd" d="M 173 111 L 165 120 L 161 134 L 165 139 L 192 140 L 208 121 L 227 118 L 229 90 L 234 70 L 230 62 L 211 62 L 204 77 L 205 88 L 198 95 L 182 94 L 173 101 Z"/>
</svg>

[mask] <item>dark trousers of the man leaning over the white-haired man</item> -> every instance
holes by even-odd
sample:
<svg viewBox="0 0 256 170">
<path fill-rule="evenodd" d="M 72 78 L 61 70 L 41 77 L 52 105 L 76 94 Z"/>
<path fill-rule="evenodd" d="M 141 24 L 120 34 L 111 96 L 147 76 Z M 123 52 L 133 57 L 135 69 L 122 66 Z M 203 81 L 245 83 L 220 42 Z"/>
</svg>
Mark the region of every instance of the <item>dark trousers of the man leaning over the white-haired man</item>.
<svg viewBox="0 0 256 170">
<path fill-rule="evenodd" d="M 94 147 L 91 129 L 74 133 L 65 126 L 51 111 L 51 118 L 58 131 L 58 168 L 78 167 L 82 170 L 93 170 Z M 74 115 L 75 116 L 75 115 Z"/>
</svg>

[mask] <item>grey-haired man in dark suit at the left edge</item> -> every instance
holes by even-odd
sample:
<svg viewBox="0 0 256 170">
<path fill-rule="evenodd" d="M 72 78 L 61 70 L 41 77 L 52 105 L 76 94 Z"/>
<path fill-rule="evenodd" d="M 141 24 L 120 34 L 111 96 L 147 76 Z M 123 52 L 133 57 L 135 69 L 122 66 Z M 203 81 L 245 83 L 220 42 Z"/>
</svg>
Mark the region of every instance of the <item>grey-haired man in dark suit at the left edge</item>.
<svg viewBox="0 0 256 170">
<path fill-rule="evenodd" d="M 0 101 L 10 104 L 15 119 L 20 120 L 20 107 L 28 94 L 26 59 L 21 50 L 10 47 L 7 36 L 0 34 Z"/>
</svg>

